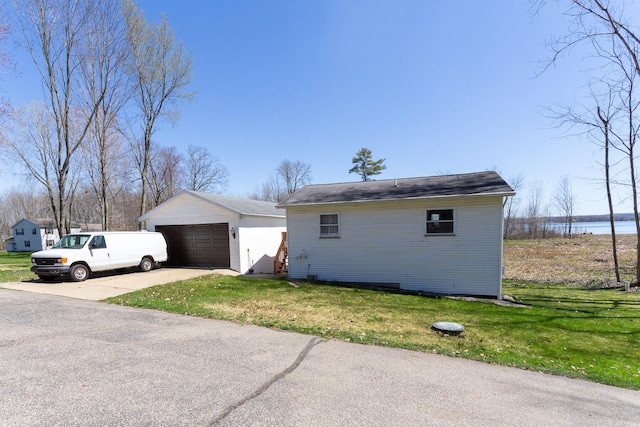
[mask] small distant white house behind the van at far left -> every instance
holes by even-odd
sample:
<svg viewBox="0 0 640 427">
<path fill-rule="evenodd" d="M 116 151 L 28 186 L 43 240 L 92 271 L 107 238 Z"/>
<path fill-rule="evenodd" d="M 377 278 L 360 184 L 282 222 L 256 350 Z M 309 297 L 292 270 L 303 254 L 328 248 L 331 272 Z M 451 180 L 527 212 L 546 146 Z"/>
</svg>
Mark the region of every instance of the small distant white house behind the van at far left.
<svg viewBox="0 0 640 427">
<path fill-rule="evenodd" d="M 72 226 L 71 232 L 79 232 L 80 228 Z M 11 227 L 13 236 L 5 240 L 8 252 L 36 252 L 49 249 L 60 235 L 55 222 L 49 219 L 21 219 Z"/>
</svg>

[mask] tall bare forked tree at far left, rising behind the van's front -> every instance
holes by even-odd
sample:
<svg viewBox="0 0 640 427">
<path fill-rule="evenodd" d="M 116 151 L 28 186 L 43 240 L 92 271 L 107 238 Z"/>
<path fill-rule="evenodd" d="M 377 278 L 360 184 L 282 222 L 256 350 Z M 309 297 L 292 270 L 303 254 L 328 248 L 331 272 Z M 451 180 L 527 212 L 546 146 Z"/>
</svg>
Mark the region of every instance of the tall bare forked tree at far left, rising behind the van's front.
<svg viewBox="0 0 640 427">
<path fill-rule="evenodd" d="M 93 17 L 109 13 L 107 2 L 77 0 L 14 0 L 24 43 L 40 74 L 47 97 L 47 114 L 53 120 L 54 139 L 49 153 L 50 171 L 30 171 L 48 179 L 56 188 L 48 188 L 56 227 L 61 235 L 69 232 L 73 200 L 70 182 L 73 162 L 85 142 L 89 129 L 107 91 L 105 84 L 86 90 L 83 63 L 91 55 L 88 49 L 101 43 L 105 32 L 95 33 Z M 116 13 L 111 11 L 111 13 Z M 88 40 L 93 40 L 89 43 Z M 104 83 L 104 82 L 102 82 Z M 28 166 L 29 167 L 29 166 Z M 38 178 L 37 178 L 38 179 Z M 42 179 L 38 181 L 43 182 Z"/>
</svg>

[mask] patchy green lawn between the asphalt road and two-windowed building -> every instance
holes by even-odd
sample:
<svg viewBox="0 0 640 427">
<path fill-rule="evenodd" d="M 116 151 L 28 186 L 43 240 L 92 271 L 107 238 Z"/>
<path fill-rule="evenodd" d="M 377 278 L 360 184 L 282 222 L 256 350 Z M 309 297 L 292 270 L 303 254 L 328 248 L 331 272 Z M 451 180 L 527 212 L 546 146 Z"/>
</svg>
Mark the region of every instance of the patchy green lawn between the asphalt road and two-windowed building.
<svg viewBox="0 0 640 427">
<path fill-rule="evenodd" d="M 640 390 L 640 294 L 505 284 L 527 305 L 205 276 L 108 300 L 363 344 L 465 357 Z M 461 337 L 431 331 L 465 326 Z"/>
</svg>

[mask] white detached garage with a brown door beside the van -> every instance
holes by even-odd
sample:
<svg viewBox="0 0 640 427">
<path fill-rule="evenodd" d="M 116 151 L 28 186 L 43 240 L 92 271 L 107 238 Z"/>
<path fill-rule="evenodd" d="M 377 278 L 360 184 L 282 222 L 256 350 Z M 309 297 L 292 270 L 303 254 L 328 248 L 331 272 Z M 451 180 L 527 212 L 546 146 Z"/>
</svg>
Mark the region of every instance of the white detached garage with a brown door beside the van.
<svg viewBox="0 0 640 427">
<path fill-rule="evenodd" d="M 185 190 L 142 215 L 167 240 L 167 265 L 273 273 L 286 231 L 274 203 Z"/>
</svg>

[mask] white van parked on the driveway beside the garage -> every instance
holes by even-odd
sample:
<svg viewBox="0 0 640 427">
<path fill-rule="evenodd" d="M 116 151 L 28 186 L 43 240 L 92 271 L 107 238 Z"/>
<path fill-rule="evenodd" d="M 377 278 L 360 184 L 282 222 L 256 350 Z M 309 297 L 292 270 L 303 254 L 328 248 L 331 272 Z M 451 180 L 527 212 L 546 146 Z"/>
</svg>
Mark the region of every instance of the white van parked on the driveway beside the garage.
<svg viewBox="0 0 640 427">
<path fill-rule="evenodd" d="M 67 234 L 51 249 L 31 254 L 31 271 L 41 280 L 68 274 L 81 282 L 92 272 L 139 266 L 149 271 L 167 260 L 161 233 L 110 231 Z"/>
</svg>

